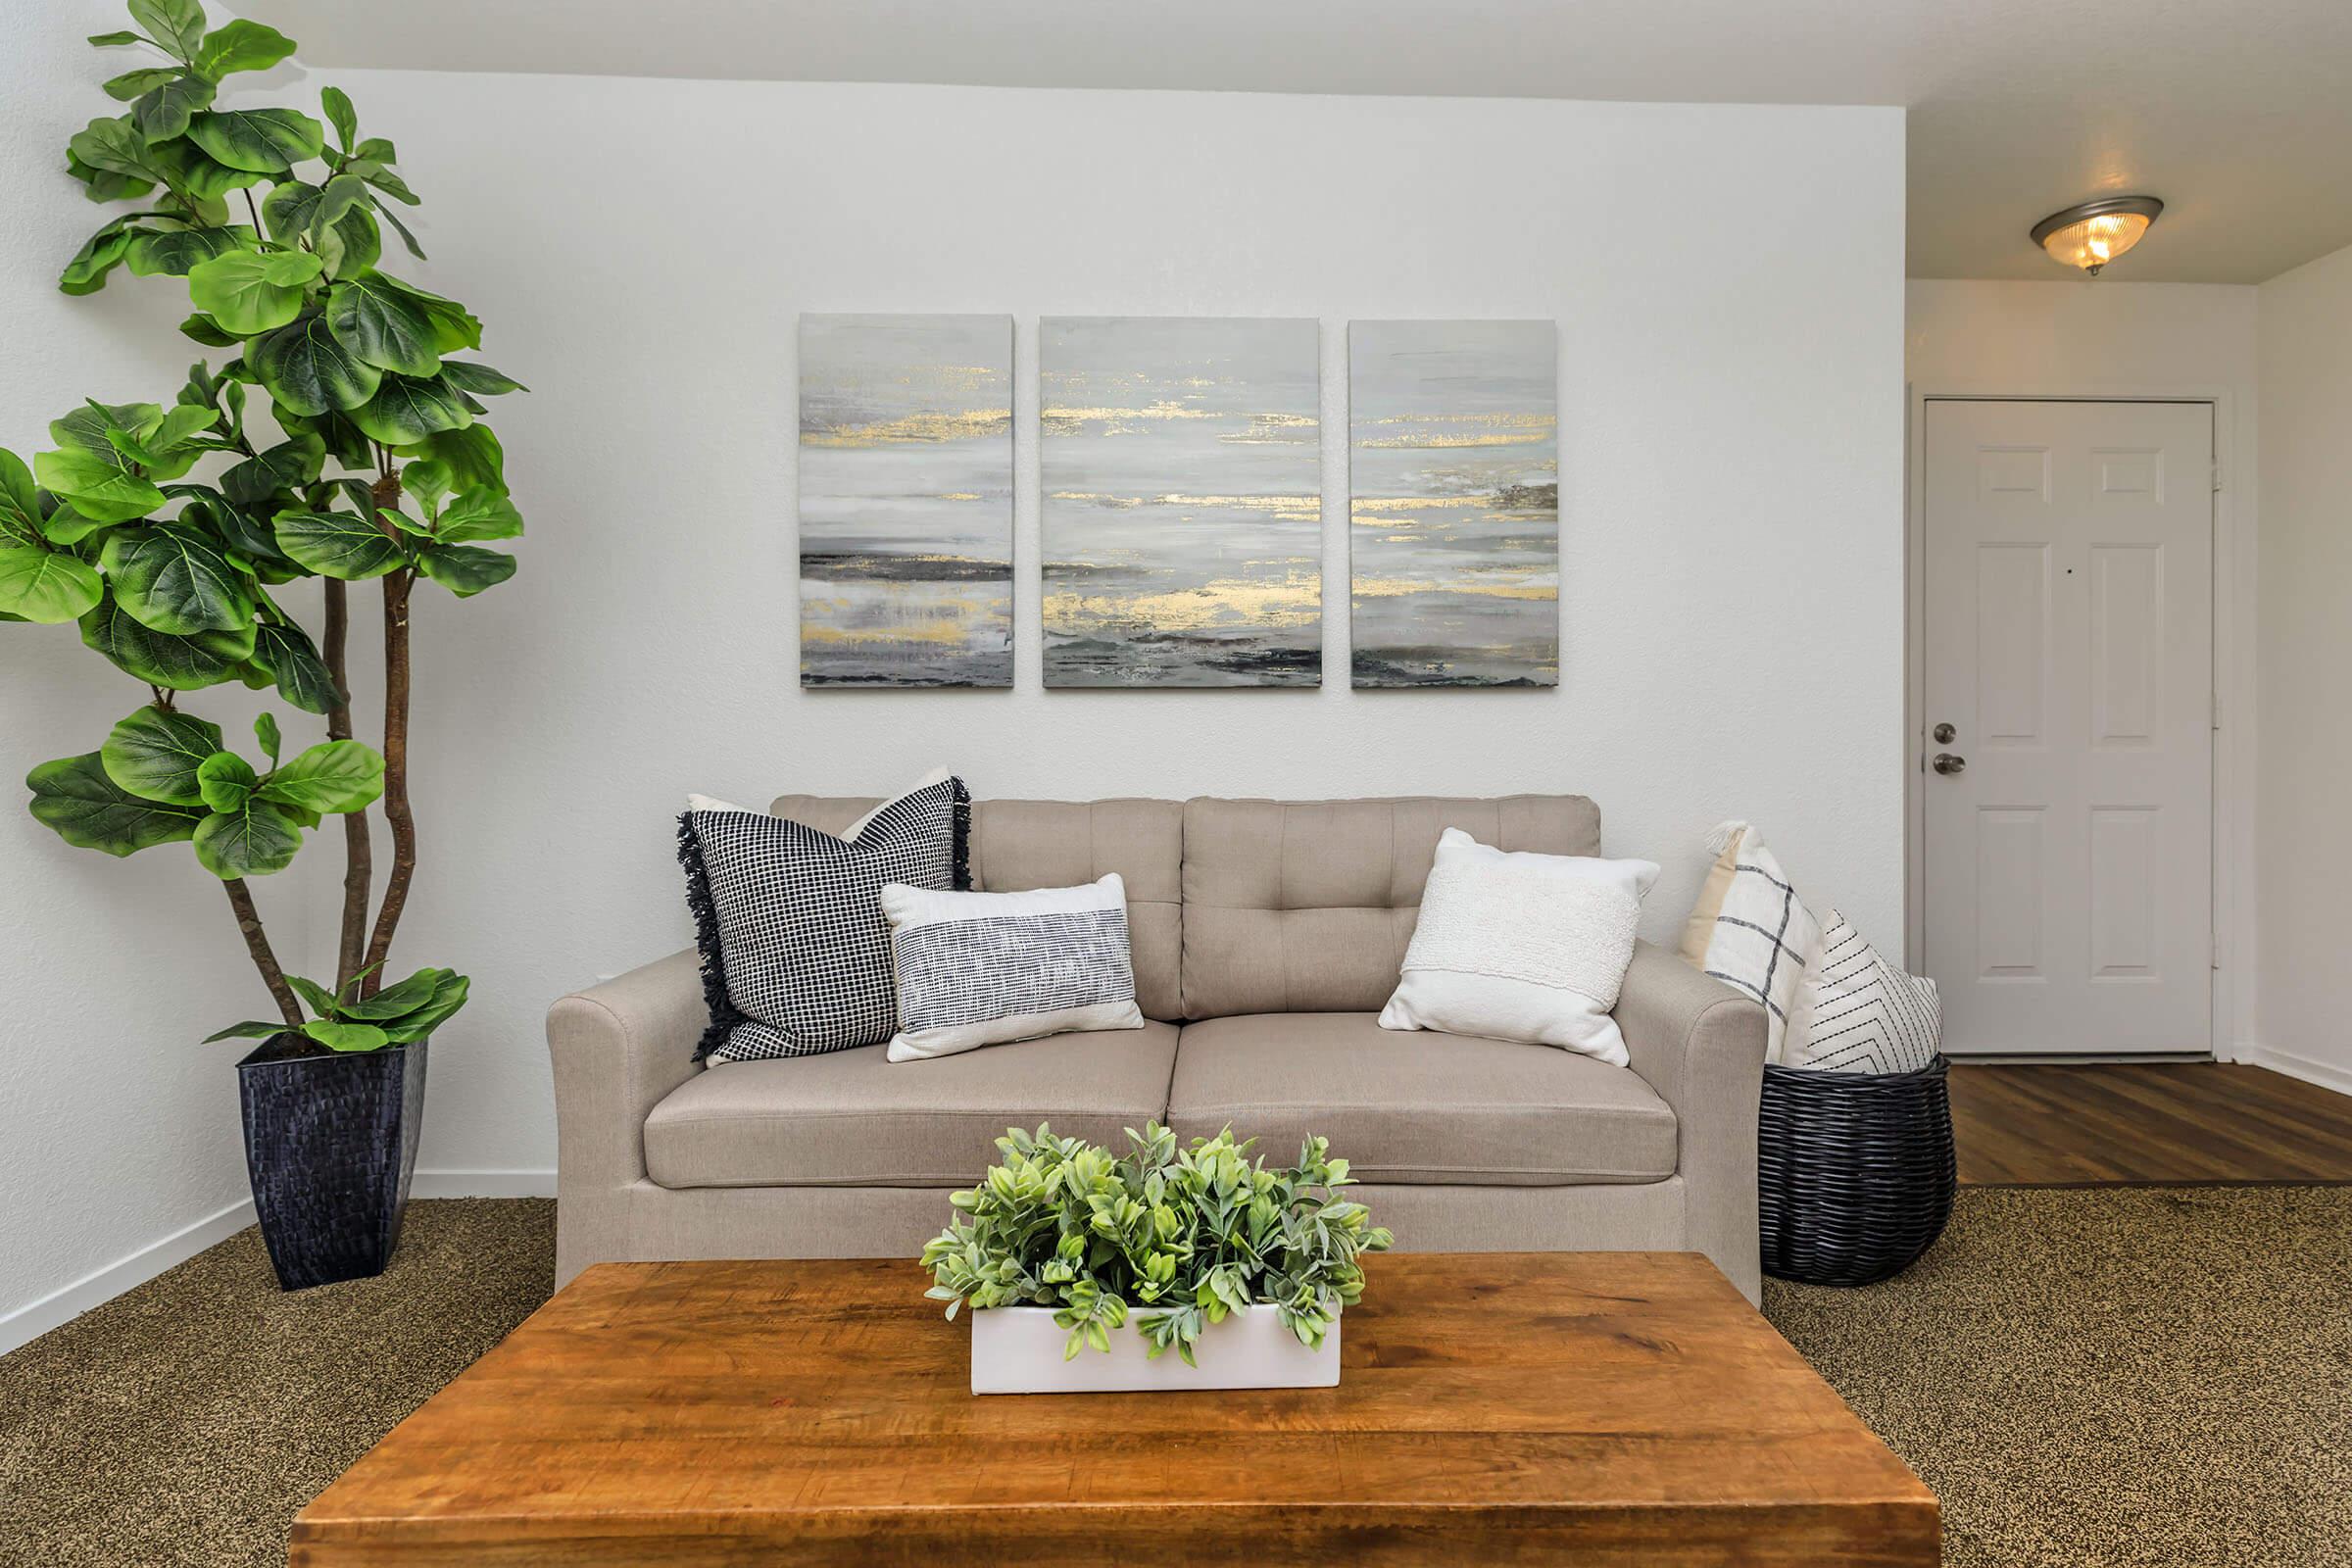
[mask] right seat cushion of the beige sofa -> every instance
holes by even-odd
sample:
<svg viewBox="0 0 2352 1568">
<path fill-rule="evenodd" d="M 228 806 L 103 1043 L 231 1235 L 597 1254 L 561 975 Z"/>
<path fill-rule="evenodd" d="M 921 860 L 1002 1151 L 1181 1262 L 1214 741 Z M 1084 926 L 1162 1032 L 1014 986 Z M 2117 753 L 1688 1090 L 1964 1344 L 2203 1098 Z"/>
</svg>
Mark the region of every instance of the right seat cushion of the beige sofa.
<svg viewBox="0 0 2352 1568">
<path fill-rule="evenodd" d="M 1169 1126 L 1209 1138 L 1228 1124 L 1277 1161 L 1322 1133 L 1367 1182 L 1569 1187 L 1675 1173 L 1675 1112 L 1637 1072 L 1559 1046 L 1383 1030 L 1374 1013 L 1188 1023 Z"/>
</svg>

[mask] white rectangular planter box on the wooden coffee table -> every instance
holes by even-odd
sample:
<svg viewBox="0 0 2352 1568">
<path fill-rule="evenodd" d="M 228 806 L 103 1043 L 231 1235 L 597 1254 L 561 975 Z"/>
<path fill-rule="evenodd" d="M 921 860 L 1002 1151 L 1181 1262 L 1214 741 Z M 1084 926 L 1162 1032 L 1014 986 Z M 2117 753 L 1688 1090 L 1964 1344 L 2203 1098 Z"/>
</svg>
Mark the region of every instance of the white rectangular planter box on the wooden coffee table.
<svg viewBox="0 0 2352 1568">
<path fill-rule="evenodd" d="M 1117 1394 L 1131 1389 L 1329 1389 L 1338 1382 L 1338 1321 L 1322 1349 L 1282 1326 L 1277 1307 L 1249 1307 L 1211 1324 L 1192 1345 L 1200 1366 L 1174 1349 L 1148 1359 L 1134 1312 L 1110 1331 L 1110 1354 L 1091 1345 L 1063 1359 L 1070 1331 L 1051 1307 L 985 1307 L 971 1314 L 974 1394 Z"/>
</svg>

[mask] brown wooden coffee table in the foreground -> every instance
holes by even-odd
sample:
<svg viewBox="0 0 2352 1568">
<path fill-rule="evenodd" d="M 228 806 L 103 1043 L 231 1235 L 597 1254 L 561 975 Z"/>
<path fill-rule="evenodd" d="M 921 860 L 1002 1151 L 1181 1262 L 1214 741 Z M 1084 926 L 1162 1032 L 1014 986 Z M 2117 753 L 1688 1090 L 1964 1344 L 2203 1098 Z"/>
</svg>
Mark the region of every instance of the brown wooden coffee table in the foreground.
<svg viewBox="0 0 2352 1568">
<path fill-rule="evenodd" d="M 1708 1260 L 1367 1272 L 1336 1389 L 974 1399 L 913 1262 L 600 1265 L 292 1561 L 1936 1563 L 1936 1497 Z"/>
</svg>

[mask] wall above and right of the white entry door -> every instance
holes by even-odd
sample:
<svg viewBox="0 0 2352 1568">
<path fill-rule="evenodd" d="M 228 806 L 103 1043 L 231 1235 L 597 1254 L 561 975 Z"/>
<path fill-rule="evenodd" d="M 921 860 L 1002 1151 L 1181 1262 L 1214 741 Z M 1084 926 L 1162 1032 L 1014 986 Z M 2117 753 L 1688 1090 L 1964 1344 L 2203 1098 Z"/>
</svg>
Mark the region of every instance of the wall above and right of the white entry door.
<svg viewBox="0 0 2352 1568">
<path fill-rule="evenodd" d="M 2216 397 L 2213 449 L 2225 489 L 2216 508 L 2213 637 L 2223 665 L 2216 745 L 2216 931 L 2223 969 L 2216 1016 L 2225 1053 L 2253 1051 L 2256 816 L 2256 536 L 2263 364 L 2258 289 L 2197 282 L 1912 280 L 1905 292 L 1905 376 L 1915 395 Z M 2265 571 L 2267 571 L 2265 562 Z M 1912 715 L 1910 729 L 1917 729 Z M 1905 771 L 1917 806 L 1919 773 Z M 1912 846 L 1917 853 L 1917 844 Z M 1912 936 L 1919 917 L 1912 860 Z M 1915 950 L 1917 957 L 1917 950 Z"/>
</svg>

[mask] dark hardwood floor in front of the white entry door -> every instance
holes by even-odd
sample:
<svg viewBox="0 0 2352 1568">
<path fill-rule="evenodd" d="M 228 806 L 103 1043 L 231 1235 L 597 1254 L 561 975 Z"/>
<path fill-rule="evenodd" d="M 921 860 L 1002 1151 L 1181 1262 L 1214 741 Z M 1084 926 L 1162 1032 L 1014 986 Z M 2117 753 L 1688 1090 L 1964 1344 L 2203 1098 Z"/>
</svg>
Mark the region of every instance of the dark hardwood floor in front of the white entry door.
<svg viewBox="0 0 2352 1568">
<path fill-rule="evenodd" d="M 1964 1185 L 2352 1182 L 2352 1095 L 2225 1063 L 1952 1065 Z"/>
</svg>

